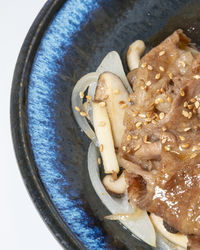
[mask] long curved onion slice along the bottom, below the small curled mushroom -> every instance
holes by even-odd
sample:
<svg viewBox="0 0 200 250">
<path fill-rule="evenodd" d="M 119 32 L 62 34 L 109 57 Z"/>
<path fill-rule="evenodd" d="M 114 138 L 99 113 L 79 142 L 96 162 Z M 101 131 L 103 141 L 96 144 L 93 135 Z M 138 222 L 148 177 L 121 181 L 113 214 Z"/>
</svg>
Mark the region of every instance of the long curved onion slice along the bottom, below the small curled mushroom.
<svg viewBox="0 0 200 250">
<path fill-rule="evenodd" d="M 131 214 L 136 211 L 136 208 L 130 206 L 127 196 L 121 199 L 113 198 L 108 194 L 100 180 L 97 158 L 97 149 L 94 143 L 91 143 L 88 150 L 88 171 L 92 185 L 97 195 L 112 214 L 120 214 L 124 217 L 126 217 L 127 214 L 130 214 L 129 218 L 131 218 Z M 119 219 L 119 221 L 127 229 L 129 229 L 134 234 L 134 236 L 138 237 L 151 246 L 156 245 L 155 230 L 146 211 L 141 210 L 140 216 L 132 216 L 131 220 L 126 220 L 122 217 L 116 217 L 115 219 Z"/>
</svg>

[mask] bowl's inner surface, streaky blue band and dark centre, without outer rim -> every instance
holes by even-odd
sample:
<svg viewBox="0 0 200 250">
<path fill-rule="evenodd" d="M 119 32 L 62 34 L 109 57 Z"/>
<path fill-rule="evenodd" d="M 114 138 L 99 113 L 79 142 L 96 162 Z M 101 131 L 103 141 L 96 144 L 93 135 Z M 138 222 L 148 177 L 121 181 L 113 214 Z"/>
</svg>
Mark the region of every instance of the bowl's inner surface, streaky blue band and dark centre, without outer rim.
<svg viewBox="0 0 200 250">
<path fill-rule="evenodd" d="M 128 238 L 117 223 L 102 221 L 107 211 L 95 197 L 86 171 L 89 141 L 72 117 L 73 85 L 95 70 L 108 51 L 117 50 L 124 58 L 135 39 L 144 39 L 150 48 L 176 28 L 191 36 L 190 12 L 184 12 L 188 22 L 177 21 L 182 19 L 176 15 L 192 2 L 68 0 L 41 40 L 28 84 L 30 143 L 51 201 L 87 249 L 150 248 Z M 170 23 L 170 18 L 176 22 Z M 107 231 L 113 231 L 113 238 Z M 121 241 L 126 243 L 119 245 Z"/>
</svg>

